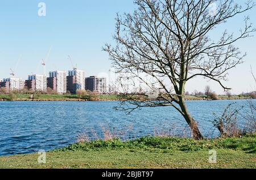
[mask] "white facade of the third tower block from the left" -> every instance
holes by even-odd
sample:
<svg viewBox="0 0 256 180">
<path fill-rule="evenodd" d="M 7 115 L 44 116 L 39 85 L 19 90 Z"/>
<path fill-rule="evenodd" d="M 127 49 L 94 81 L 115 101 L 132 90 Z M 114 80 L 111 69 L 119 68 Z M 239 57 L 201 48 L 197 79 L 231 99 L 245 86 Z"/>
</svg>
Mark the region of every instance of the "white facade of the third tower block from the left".
<svg viewBox="0 0 256 180">
<path fill-rule="evenodd" d="M 67 92 L 67 76 L 64 71 L 49 72 L 49 78 L 56 78 L 56 91 L 57 93 Z"/>
</svg>

